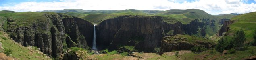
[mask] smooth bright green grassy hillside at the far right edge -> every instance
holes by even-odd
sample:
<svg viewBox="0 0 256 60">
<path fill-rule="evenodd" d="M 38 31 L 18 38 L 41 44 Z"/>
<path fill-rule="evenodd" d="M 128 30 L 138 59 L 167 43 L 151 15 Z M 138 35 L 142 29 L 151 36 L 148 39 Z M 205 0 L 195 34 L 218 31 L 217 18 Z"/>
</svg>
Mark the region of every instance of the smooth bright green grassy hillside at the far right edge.
<svg viewBox="0 0 256 60">
<path fill-rule="evenodd" d="M 246 34 L 247 42 L 253 40 L 252 34 L 254 30 L 256 30 L 256 12 L 250 12 L 247 14 L 240 14 L 231 18 L 232 21 L 235 21 L 233 24 L 230 25 L 230 30 L 228 31 L 229 34 L 235 33 L 237 30 L 244 30 Z"/>
</svg>

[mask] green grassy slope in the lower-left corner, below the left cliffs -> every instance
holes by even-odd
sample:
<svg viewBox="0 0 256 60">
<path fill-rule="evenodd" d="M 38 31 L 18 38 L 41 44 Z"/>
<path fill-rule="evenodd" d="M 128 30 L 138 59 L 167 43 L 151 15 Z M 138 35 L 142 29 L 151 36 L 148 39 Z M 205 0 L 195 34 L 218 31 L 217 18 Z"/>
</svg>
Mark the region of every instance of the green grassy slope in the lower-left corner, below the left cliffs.
<svg viewBox="0 0 256 60">
<path fill-rule="evenodd" d="M 39 50 L 24 47 L 14 42 L 10 37 L 8 37 L 6 32 L 0 32 L 0 37 L 0 42 L 2 42 L 4 49 L 13 50 L 10 55 L 11 57 L 18 58 L 19 60 L 51 60 L 50 57 L 46 56 Z"/>
</svg>

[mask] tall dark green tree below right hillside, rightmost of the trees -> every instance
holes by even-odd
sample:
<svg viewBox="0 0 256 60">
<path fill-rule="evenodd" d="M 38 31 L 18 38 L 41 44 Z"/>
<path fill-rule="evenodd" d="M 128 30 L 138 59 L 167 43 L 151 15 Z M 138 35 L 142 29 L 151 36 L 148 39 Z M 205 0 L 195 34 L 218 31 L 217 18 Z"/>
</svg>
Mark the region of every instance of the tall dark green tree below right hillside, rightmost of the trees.
<svg viewBox="0 0 256 60">
<path fill-rule="evenodd" d="M 233 40 L 232 40 L 232 43 L 233 43 L 233 46 L 238 50 L 240 50 L 240 48 L 242 46 L 244 46 L 244 41 L 246 40 L 245 38 L 245 33 L 244 33 L 244 30 L 239 30 L 237 32 L 235 32 L 235 35 L 233 37 Z"/>
</svg>

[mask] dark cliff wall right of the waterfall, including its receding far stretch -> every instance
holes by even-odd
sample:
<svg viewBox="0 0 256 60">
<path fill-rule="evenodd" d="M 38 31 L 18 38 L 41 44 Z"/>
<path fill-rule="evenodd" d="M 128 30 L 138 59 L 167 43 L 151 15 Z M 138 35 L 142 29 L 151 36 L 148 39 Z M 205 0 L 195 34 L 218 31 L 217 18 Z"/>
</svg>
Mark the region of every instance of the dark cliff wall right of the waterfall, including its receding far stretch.
<svg viewBox="0 0 256 60">
<path fill-rule="evenodd" d="M 169 31 L 176 34 L 197 34 L 202 22 L 194 20 L 189 24 L 168 24 L 160 16 L 120 16 L 102 21 L 97 26 L 98 47 L 110 50 L 121 46 L 135 46 L 139 51 L 154 52 L 160 47 L 161 38 L 168 36 Z M 103 48 L 104 49 L 104 48 Z"/>
</svg>

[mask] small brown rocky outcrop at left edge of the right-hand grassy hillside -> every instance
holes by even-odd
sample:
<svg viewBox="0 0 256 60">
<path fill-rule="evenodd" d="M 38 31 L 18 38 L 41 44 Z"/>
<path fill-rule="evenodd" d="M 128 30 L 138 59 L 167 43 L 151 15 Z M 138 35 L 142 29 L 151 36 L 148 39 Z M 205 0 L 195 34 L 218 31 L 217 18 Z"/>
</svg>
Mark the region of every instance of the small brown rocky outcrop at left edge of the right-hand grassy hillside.
<svg viewBox="0 0 256 60">
<path fill-rule="evenodd" d="M 232 24 L 232 23 L 233 23 L 233 21 L 230 21 L 230 20 L 225 21 L 224 24 L 223 24 L 223 26 L 222 26 L 221 29 L 219 30 L 218 35 L 219 35 L 219 36 L 222 36 L 223 32 L 227 32 L 227 31 L 229 30 L 229 25 Z"/>
</svg>

